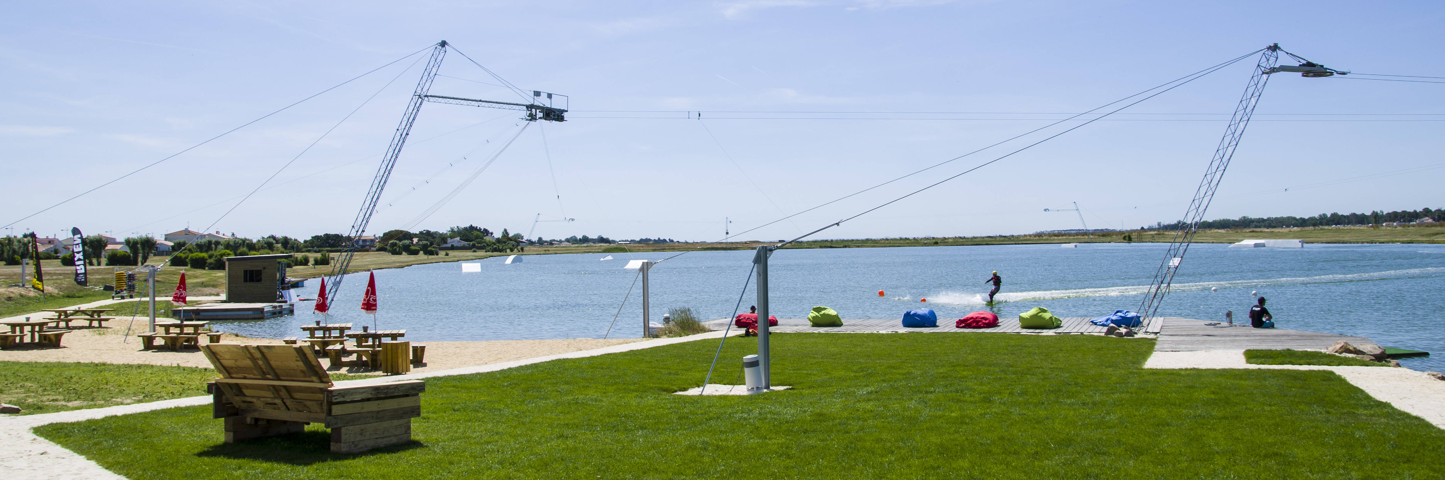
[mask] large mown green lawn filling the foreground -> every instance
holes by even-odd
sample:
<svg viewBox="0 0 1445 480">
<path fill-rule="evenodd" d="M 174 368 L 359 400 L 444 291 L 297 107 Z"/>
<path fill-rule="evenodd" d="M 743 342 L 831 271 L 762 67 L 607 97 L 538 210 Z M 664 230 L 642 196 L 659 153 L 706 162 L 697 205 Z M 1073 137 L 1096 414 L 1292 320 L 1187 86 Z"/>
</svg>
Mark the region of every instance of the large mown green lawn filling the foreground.
<svg viewBox="0 0 1445 480">
<path fill-rule="evenodd" d="M 762 396 L 679 396 L 712 341 L 428 379 L 415 441 L 224 444 L 210 406 L 36 432 L 130 479 L 1438 479 L 1445 432 L 1331 372 L 1143 370 L 1098 335 L 779 334 Z M 714 380 L 741 383 L 733 338 Z M 184 466 L 184 467 L 178 467 Z"/>
</svg>

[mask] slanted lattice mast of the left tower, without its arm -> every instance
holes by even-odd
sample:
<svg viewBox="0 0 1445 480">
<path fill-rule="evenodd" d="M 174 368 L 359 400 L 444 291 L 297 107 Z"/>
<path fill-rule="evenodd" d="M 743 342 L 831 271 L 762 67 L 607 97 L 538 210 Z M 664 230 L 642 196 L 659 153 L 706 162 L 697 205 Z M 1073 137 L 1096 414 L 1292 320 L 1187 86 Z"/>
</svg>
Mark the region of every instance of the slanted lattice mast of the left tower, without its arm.
<svg viewBox="0 0 1445 480">
<path fill-rule="evenodd" d="M 386 189 L 386 181 L 392 178 L 392 168 L 396 166 L 396 159 L 402 155 L 406 137 L 412 134 L 416 113 L 422 110 L 422 103 L 426 101 L 426 94 L 432 90 L 432 81 L 436 80 L 436 69 L 442 67 L 444 56 L 447 56 L 447 40 L 441 40 L 432 48 L 432 56 L 426 61 L 426 68 L 422 69 L 422 80 L 416 82 L 416 91 L 412 93 L 412 100 L 406 104 L 406 114 L 402 116 L 402 123 L 396 127 L 396 133 L 392 134 L 392 145 L 386 147 L 381 165 L 376 168 L 376 176 L 371 178 L 371 189 L 367 191 L 366 200 L 361 201 L 361 210 L 357 211 L 357 218 L 351 223 L 351 231 L 347 233 L 347 250 L 338 254 L 335 265 L 331 266 L 331 272 L 327 273 L 331 278 L 331 291 L 327 292 L 327 298 L 337 298 L 337 292 L 341 289 L 341 280 L 345 278 L 347 267 L 351 266 L 351 257 L 355 256 L 361 234 L 366 233 L 367 224 L 371 223 L 371 215 L 376 214 L 376 204 L 381 201 L 381 191 Z"/>
</svg>

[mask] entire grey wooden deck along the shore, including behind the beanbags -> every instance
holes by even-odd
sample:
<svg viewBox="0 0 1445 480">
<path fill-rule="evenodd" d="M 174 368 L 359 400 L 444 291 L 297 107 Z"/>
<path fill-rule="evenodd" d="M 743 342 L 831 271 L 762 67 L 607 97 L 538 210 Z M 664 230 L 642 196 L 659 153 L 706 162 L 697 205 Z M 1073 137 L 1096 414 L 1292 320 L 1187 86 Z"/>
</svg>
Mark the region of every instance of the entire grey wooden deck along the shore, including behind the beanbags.
<svg viewBox="0 0 1445 480">
<path fill-rule="evenodd" d="M 933 328 L 906 328 L 900 318 L 844 318 L 842 327 L 812 327 L 806 318 L 779 318 L 777 325 L 769 328 L 775 333 L 1000 333 L 1000 334 L 1094 334 L 1103 335 L 1105 327 L 1090 324 L 1092 318 L 1068 317 L 1059 318 L 1064 325 L 1059 328 L 1039 330 L 1019 327 L 1019 318 L 998 318 L 998 327 L 993 328 L 957 328 L 954 320 L 939 318 Z M 727 328 L 727 320 L 718 318 L 707 321 L 708 328 Z M 1196 351 L 1196 350 L 1325 350 L 1337 341 L 1348 341 L 1355 346 L 1373 346 L 1374 341 L 1364 337 L 1322 334 L 1315 331 L 1286 330 L 1286 328 L 1250 328 L 1235 325 L 1205 325 L 1204 320 L 1159 317 L 1152 318 L 1144 327 L 1146 334 L 1157 334 L 1155 351 Z"/>
</svg>

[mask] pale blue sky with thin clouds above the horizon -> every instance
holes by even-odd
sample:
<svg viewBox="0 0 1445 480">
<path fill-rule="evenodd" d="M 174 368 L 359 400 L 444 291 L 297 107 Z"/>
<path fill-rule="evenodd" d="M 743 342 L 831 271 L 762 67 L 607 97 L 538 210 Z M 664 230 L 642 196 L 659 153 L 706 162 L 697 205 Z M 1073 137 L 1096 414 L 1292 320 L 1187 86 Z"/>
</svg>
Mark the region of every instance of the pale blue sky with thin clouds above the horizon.
<svg viewBox="0 0 1445 480">
<path fill-rule="evenodd" d="M 535 236 L 717 240 L 724 217 L 734 233 L 747 230 L 1272 42 L 1332 68 L 1445 77 L 1442 10 L 1429 1 L 16 4 L 0 19 L 0 224 L 445 39 L 523 90 L 569 95 L 569 121 L 529 126 L 419 218 L 520 124 L 507 110 L 425 104 L 371 231 L 416 223 L 526 233 L 542 214 L 577 221 L 540 223 Z M 342 233 L 415 87 L 415 59 L 6 233 L 211 224 L 250 237 Z M 1178 220 L 1253 62 L 822 237 L 1075 228 L 1074 213 L 1043 211 L 1075 201 L 1090 227 Z M 455 51 L 441 74 L 432 94 L 517 98 Z M 1309 187 L 1439 166 L 1442 106 L 1442 84 L 1279 75 L 1208 217 L 1442 207 L 1445 168 Z M 289 184 L 225 214 L 231 198 L 312 142 L 267 187 Z M 741 239 L 793 237 L 1023 145 Z"/>
</svg>

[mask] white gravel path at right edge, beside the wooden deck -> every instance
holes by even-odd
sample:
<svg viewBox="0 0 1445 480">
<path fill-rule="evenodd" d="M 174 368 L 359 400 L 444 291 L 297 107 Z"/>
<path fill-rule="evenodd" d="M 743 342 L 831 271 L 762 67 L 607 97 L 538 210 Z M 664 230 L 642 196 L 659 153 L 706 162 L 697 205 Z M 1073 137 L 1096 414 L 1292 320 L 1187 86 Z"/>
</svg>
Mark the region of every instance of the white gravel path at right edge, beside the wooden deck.
<svg viewBox="0 0 1445 480">
<path fill-rule="evenodd" d="M 1329 370 L 1374 399 L 1445 428 L 1445 382 L 1403 367 L 1248 364 L 1244 350 L 1155 351 L 1144 369 Z"/>
</svg>

